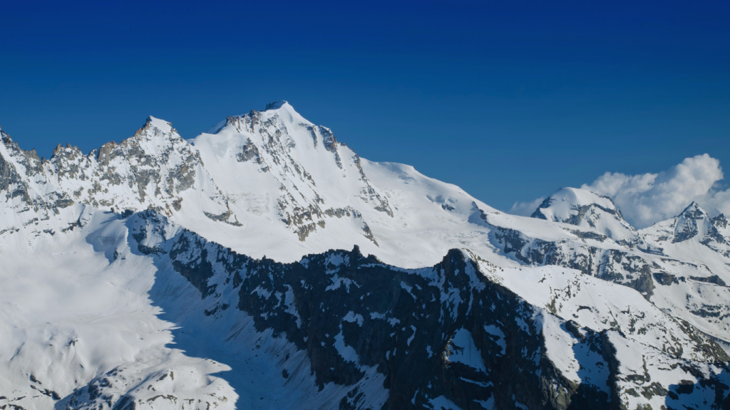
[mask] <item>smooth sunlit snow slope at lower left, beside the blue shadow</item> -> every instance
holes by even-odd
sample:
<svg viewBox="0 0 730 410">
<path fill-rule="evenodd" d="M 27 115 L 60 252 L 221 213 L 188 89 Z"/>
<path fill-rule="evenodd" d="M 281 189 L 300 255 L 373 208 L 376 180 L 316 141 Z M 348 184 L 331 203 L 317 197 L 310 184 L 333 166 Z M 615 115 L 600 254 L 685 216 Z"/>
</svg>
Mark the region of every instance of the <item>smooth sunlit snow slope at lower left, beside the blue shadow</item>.
<svg viewBox="0 0 730 410">
<path fill-rule="evenodd" d="M 180 400 L 207 398 L 192 408 L 225 405 L 228 398 L 233 409 L 237 394 L 213 376 L 227 365 L 167 346 L 175 325 L 151 303 L 156 269 L 128 251 L 118 214 L 87 216 L 84 228 L 1 250 L 0 403 L 54 409 L 78 387 L 106 379 L 117 392 L 155 384 L 155 390 L 138 387 L 143 400 L 174 392 Z M 159 380 L 173 372 L 176 379 Z M 155 409 L 171 408 L 158 401 Z"/>
</svg>

